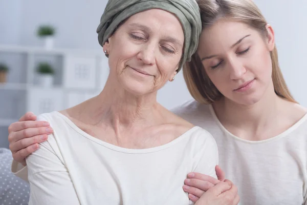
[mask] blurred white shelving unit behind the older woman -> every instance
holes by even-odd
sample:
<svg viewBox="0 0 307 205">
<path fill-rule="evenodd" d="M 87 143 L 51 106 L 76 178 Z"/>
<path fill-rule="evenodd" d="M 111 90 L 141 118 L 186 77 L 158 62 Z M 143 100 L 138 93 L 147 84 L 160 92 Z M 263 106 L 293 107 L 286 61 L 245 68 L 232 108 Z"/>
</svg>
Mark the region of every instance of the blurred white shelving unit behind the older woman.
<svg viewBox="0 0 307 205">
<path fill-rule="evenodd" d="M 47 62 L 55 69 L 54 85 L 36 83 L 36 66 Z M 7 83 L 0 83 L 0 134 L 2 128 L 27 111 L 36 115 L 72 107 L 97 95 L 107 75 L 107 58 L 101 50 L 1 46 L 0 63 L 10 68 Z"/>
</svg>

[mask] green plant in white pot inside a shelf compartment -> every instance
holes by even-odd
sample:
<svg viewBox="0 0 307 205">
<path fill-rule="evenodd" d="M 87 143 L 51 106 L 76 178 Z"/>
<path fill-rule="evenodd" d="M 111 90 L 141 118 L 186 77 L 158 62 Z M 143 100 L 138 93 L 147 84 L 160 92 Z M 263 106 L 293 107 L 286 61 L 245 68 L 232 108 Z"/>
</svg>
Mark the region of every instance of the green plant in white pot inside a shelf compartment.
<svg viewBox="0 0 307 205">
<path fill-rule="evenodd" d="M 43 87 L 53 85 L 54 69 L 48 63 L 39 63 L 37 66 L 38 83 Z"/>
</svg>

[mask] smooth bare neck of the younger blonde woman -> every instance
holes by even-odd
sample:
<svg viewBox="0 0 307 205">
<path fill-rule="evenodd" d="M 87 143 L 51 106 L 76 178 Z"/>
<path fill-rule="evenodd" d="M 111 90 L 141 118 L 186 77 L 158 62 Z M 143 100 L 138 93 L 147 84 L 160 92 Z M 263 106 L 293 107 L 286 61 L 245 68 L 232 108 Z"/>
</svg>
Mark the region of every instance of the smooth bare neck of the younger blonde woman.
<svg viewBox="0 0 307 205">
<path fill-rule="evenodd" d="M 276 121 L 281 101 L 272 83 L 264 96 L 253 105 L 240 105 L 223 98 L 214 103 L 213 108 L 221 123 L 233 134 L 249 140 L 261 140 L 264 137 L 264 130 L 270 128 Z"/>
</svg>

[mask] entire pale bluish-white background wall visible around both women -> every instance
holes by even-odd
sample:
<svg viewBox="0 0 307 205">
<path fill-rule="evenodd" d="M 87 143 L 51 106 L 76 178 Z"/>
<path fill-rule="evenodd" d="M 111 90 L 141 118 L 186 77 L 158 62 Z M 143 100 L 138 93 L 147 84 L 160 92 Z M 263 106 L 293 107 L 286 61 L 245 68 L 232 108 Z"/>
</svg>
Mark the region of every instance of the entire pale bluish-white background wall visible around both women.
<svg viewBox="0 0 307 205">
<path fill-rule="evenodd" d="M 56 47 L 100 49 L 96 28 L 106 0 L 0 0 L 0 44 L 38 46 L 36 28 L 50 23 L 56 26 Z M 282 72 L 294 97 L 307 107 L 307 1 L 254 0 L 276 33 Z M 4 30 L 3 30 L 4 29 Z M 167 108 L 191 99 L 182 72 L 158 94 Z"/>
</svg>

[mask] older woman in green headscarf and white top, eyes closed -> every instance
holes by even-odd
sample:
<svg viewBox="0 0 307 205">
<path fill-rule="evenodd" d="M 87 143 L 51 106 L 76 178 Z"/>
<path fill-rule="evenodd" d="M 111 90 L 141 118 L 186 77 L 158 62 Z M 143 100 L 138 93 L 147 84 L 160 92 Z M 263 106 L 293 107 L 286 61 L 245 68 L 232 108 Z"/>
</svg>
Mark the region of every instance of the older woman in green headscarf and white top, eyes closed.
<svg viewBox="0 0 307 205">
<path fill-rule="evenodd" d="M 38 116 L 54 132 L 27 158 L 30 204 L 192 203 L 183 181 L 192 171 L 216 177 L 215 141 L 156 97 L 196 50 L 198 5 L 112 0 L 97 32 L 108 57 L 107 82 L 80 105 Z M 236 196 L 226 181 L 204 197 L 220 200 L 227 190 Z"/>
</svg>

